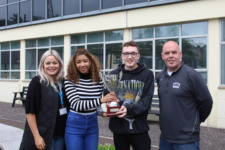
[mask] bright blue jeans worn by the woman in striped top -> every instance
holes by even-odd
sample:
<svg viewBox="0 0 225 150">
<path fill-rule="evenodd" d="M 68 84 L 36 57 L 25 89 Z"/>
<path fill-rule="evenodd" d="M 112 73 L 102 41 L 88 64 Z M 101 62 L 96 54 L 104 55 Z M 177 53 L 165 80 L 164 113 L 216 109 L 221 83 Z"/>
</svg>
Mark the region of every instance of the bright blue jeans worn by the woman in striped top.
<svg viewBox="0 0 225 150">
<path fill-rule="evenodd" d="M 98 130 L 97 113 L 81 115 L 69 112 L 65 129 L 67 150 L 97 150 Z"/>
</svg>

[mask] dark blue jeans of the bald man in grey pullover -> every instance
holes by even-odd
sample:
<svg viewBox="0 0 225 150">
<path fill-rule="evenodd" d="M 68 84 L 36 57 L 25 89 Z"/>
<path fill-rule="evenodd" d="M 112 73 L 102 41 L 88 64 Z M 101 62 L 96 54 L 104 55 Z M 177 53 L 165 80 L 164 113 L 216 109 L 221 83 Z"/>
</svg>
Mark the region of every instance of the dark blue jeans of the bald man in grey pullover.
<svg viewBox="0 0 225 150">
<path fill-rule="evenodd" d="M 200 150 L 200 148 L 199 141 L 185 144 L 176 144 L 167 142 L 160 137 L 159 150 Z"/>
</svg>

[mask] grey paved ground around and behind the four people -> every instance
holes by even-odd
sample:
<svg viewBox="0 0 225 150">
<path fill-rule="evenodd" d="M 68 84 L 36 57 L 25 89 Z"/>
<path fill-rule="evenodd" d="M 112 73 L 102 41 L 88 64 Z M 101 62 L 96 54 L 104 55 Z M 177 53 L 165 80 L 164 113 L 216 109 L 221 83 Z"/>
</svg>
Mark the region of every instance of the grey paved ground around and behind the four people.
<svg viewBox="0 0 225 150">
<path fill-rule="evenodd" d="M 16 104 L 15 107 L 11 107 L 11 103 L 0 102 L 0 145 L 4 146 L 4 150 L 14 150 L 12 148 L 6 149 L 7 146 L 16 144 L 14 141 L 19 141 L 20 144 L 23 133 L 23 130 L 21 129 L 24 128 L 25 120 L 26 115 L 22 105 Z M 98 123 L 99 143 L 103 145 L 105 143 L 110 143 L 113 145 L 113 135 L 108 128 L 109 118 L 98 117 Z M 159 124 L 157 122 L 149 121 L 149 127 L 152 150 L 158 150 L 160 137 Z M 14 140 L 14 138 L 16 139 Z M 200 139 L 201 150 L 225 149 L 225 129 L 201 126 Z M 3 144 L 7 145 L 5 146 Z M 17 143 L 17 150 L 19 144 Z"/>
</svg>

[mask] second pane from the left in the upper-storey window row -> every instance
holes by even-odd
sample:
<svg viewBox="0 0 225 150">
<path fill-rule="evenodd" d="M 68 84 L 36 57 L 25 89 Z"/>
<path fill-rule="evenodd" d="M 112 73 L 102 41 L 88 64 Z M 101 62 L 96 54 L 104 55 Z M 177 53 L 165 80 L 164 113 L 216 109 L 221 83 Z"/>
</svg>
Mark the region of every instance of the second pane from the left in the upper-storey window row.
<svg viewBox="0 0 225 150">
<path fill-rule="evenodd" d="M 18 4 L 13 4 L 13 5 L 9 5 L 8 6 L 8 25 L 13 25 L 13 24 L 17 24 L 17 5 Z"/>
</svg>

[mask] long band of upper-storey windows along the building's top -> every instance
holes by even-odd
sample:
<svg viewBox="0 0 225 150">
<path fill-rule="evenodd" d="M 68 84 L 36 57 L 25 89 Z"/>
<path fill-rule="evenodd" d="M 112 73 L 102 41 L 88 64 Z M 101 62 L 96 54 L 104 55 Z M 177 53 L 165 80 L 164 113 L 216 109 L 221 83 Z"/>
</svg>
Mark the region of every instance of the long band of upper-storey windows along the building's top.
<svg viewBox="0 0 225 150">
<path fill-rule="evenodd" d="M 0 0 L 0 30 L 183 1 L 185 0 Z"/>
</svg>

